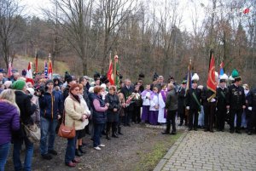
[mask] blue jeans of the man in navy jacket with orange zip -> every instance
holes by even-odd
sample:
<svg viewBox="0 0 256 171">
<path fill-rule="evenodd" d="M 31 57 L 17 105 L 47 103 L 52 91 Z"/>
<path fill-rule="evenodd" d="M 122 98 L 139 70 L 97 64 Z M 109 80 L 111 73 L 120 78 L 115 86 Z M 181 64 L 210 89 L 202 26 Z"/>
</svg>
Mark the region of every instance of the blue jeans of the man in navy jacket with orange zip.
<svg viewBox="0 0 256 171">
<path fill-rule="evenodd" d="M 49 150 L 54 150 L 55 144 L 55 128 L 58 124 L 58 120 L 47 119 L 41 117 L 41 140 L 40 140 L 40 151 L 41 155 L 47 154 Z M 47 145 L 47 138 L 48 145 Z"/>
</svg>

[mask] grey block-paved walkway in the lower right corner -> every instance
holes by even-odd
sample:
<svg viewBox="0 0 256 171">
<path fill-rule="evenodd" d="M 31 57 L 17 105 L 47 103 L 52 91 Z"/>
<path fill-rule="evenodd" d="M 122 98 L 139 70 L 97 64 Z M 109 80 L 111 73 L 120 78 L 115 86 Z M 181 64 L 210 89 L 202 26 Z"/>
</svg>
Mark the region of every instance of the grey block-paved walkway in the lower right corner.
<svg viewBox="0 0 256 171">
<path fill-rule="evenodd" d="M 185 132 L 166 156 L 158 170 L 256 170 L 256 135 L 228 132 Z"/>
</svg>

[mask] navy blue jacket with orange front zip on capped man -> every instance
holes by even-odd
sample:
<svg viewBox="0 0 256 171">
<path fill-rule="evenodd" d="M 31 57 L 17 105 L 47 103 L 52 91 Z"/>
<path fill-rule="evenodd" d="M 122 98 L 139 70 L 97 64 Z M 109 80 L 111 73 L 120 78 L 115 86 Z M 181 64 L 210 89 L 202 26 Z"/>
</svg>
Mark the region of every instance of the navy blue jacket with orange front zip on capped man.
<svg viewBox="0 0 256 171">
<path fill-rule="evenodd" d="M 63 112 L 63 98 L 61 91 L 46 92 L 39 97 L 40 115 L 48 119 L 57 119 Z"/>
</svg>

